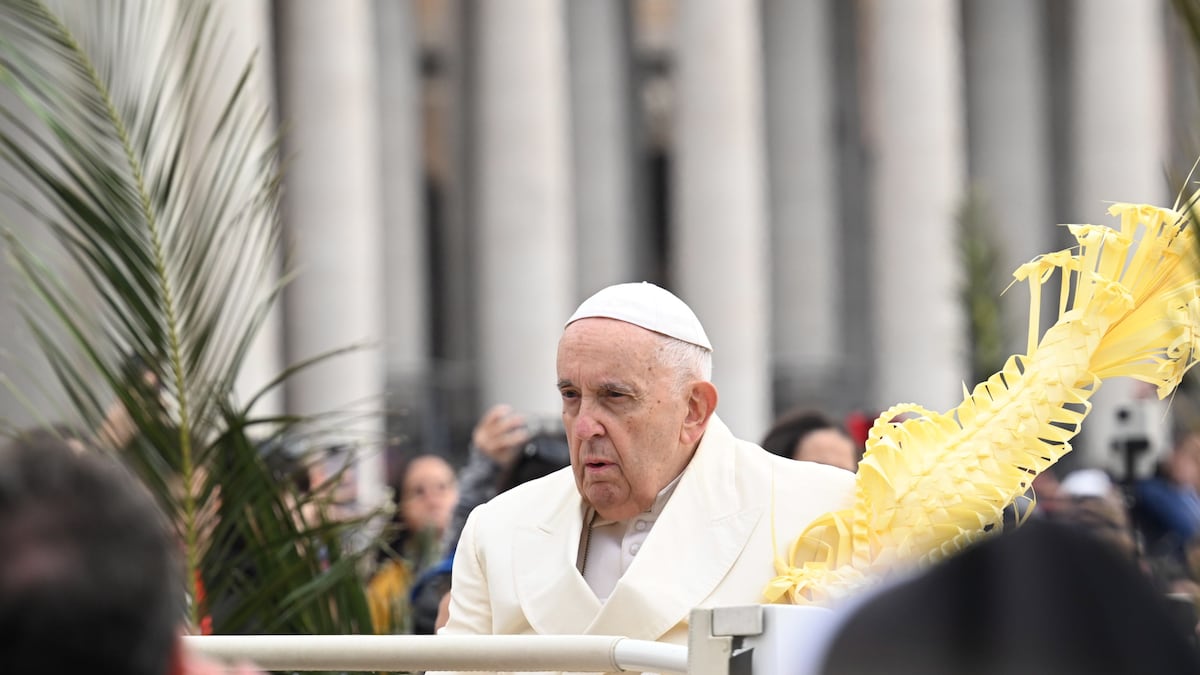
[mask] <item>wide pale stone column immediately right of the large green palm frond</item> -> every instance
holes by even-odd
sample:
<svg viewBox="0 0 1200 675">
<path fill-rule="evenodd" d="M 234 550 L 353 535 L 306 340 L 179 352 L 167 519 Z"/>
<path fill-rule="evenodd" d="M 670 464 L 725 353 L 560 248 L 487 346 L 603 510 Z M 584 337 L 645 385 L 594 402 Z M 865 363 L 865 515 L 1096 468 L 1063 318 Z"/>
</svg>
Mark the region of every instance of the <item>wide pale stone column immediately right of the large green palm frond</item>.
<svg viewBox="0 0 1200 675">
<path fill-rule="evenodd" d="M 286 297 L 288 360 L 364 346 L 300 372 L 288 386 L 288 407 L 343 412 L 329 442 L 362 444 L 359 500 L 374 503 L 383 477 L 385 310 L 372 2 L 276 7 L 289 157 L 283 207 L 296 273 Z"/>
</svg>

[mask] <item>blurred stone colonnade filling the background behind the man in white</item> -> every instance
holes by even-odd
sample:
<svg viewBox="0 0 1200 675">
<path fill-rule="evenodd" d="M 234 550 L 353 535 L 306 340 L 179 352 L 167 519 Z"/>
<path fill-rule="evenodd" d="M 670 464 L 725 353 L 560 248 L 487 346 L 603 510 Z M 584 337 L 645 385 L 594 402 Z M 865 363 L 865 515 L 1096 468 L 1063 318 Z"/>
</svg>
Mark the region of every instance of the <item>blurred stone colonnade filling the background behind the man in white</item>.
<svg viewBox="0 0 1200 675">
<path fill-rule="evenodd" d="M 253 54 L 277 112 L 296 265 L 246 378 L 368 345 L 264 405 L 365 405 L 401 455 L 461 458 L 496 402 L 557 416 L 563 321 L 620 281 L 696 310 L 742 437 L 797 405 L 948 410 L 1025 351 L 1001 292 L 1056 223 L 1170 204 L 1200 155 L 1165 0 L 218 5 L 230 78 Z M 1070 461 L 1169 446 L 1178 405 L 1094 404 Z"/>
</svg>

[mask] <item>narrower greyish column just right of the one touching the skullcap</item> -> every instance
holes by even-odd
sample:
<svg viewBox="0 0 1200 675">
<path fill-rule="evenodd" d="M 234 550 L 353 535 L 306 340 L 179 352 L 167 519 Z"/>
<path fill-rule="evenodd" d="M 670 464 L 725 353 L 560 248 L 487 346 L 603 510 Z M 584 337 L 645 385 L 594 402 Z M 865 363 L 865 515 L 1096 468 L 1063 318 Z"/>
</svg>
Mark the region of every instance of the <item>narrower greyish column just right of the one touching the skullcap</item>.
<svg viewBox="0 0 1200 675">
<path fill-rule="evenodd" d="M 772 353 L 776 400 L 836 412 L 845 356 L 830 5 L 767 0 Z"/>
</svg>

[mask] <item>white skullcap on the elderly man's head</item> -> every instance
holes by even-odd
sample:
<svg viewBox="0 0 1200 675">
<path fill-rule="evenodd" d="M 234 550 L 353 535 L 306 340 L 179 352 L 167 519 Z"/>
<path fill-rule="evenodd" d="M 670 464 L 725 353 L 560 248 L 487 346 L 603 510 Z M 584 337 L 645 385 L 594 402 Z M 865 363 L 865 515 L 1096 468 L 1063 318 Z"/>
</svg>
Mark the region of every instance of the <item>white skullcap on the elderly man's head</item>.
<svg viewBox="0 0 1200 675">
<path fill-rule="evenodd" d="M 666 288 L 647 281 L 601 288 L 583 300 L 566 325 L 581 318 L 614 318 L 713 351 L 691 307 Z"/>
</svg>

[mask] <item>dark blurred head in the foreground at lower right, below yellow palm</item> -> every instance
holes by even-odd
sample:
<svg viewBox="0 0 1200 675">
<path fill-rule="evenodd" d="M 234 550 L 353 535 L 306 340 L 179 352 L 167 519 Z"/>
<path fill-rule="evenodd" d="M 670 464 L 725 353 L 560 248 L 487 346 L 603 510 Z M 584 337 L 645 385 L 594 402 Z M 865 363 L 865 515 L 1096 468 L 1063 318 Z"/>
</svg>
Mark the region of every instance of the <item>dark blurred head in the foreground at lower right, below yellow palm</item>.
<svg viewBox="0 0 1200 675">
<path fill-rule="evenodd" d="M 1033 520 L 847 605 L 822 675 L 1200 673 L 1192 623 L 1111 546 Z"/>
</svg>

